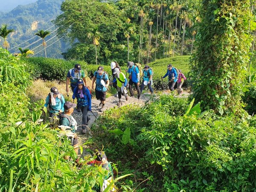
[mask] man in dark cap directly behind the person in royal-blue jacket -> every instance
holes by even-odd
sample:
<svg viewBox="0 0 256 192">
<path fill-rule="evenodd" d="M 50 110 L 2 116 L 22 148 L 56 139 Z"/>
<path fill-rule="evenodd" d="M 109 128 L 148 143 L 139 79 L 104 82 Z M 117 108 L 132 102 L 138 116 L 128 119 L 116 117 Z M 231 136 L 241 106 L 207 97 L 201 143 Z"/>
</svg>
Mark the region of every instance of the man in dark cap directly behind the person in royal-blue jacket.
<svg viewBox="0 0 256 192">
<path fill-rule="evenodd" d="M 74 92 L 74 89 L 76 88 L 78 79 L 83 79 L 84 80 L 84 84 L 86 85 L 86 79 L 85 79 L 84 70 L 81 69 L 81 65 L 80 64 L 75 64 L 75 67 L 70 69 L 67 72 L 67 81 L 66 81 L 66 91 L 67 91 L 67 94 L 69 92 L 69 88 L 68 88 L 69 83 L 70 83 L 72 92 Z M 77 111 L 79 113 L 81 112 L 79 108 L 77 109 Z"/>
</svg>

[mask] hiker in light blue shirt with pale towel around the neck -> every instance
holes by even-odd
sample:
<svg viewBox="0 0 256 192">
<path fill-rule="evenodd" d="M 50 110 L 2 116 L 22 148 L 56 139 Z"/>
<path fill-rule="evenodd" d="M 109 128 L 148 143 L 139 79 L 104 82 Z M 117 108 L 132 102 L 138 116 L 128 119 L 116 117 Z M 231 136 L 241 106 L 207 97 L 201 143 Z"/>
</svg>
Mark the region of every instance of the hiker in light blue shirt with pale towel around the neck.
<svg viewBox="0 0 256 192">
<path fill-rule="evenodd" d="M 55 114 L 61 113 L 64 111 L 65 99 L 62 94 L 58 91 L 56 87 L 50 89 L 50 93 L 45 99 L 44 107 L 47 108 L 49 105 L 50 117 L 53 118 Z"/>
</svg>

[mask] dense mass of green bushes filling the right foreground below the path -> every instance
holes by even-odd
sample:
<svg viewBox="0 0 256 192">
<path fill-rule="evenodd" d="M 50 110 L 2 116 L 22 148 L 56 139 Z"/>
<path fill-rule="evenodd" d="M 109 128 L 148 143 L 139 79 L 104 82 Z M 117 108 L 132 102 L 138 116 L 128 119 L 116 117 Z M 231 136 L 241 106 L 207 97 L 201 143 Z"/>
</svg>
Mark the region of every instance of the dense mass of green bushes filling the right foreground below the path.
<svg viewBox="0 0 256 192">
<path fill-rule="evenodd" d="M 93 128 L 95 142 L 119 160 L 120 171 L 140 170 L 137 178 L 143 179 L 147 172 L 154 191 L 256 190 L 255 118 L 201 113 L 200 105 L 192 108 L 173 96 L 151 101 L 112 109 Z M 131 136 L 125 145 L 126 129 Z"/>
</svg>

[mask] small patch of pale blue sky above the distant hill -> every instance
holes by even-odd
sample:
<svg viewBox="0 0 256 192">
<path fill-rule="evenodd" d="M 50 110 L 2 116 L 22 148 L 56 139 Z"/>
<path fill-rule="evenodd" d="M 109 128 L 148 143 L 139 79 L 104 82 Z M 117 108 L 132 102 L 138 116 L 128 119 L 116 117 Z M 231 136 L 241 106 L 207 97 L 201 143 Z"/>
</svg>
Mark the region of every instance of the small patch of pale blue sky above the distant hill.
<svg viewBox="0 0 256 192">
<path fill-rule="evenodd" d="M 0 0 L 0 12 L 9 12 L 18 5 L 34 3 L 37 0 Z"/>
</svg>

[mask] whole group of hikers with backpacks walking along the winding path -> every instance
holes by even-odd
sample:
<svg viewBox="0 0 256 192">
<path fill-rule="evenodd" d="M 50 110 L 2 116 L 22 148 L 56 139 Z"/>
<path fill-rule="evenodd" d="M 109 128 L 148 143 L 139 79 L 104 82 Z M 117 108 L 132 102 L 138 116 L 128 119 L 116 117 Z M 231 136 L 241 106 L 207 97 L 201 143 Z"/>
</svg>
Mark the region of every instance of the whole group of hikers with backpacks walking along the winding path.
<svg viewBox="0 0 256 192">
<path fill-rule="evenodd" d="M 99 111 L 102 112 L 105 110 L 106 93 L 108 90 L 108 86 L 110 84 L 113 85 L 113 87 L 115 87 L 117 90 L 119 98 L 119 102 L 117 103 L 117 105 L 121 105 L 122 96 L 125 96 L 125 99 L 128 100 L 127 89 L 129 90 L 131 97 L 134 97 L 133 85 L 137 90 L 138 99 L 140 99 L 141 93 L 146 85 L 148 86 L 148 89 L 150 90 L 151 94 L 153 94 L 153 89 L 151 87 L 153 84 L 152 69 L 148 65 L 145 65 L 145 67 L 143 68 L 143 80 L 140 86 L 140 69 L 137 66 L 137 64 L 134 64 L 134 62 L 129 61 L 127 63 L 127 67 L 128 69 L 125 71 L 129 74 L 129 81 L 126 78 L 125 74 L 122 73 L 119 64 L 115 61 L 111 62 L 111 71 L 113 77 L 112 82 L 110 82 L 108 74 L 104 71 L 104 67 L 99 66 L 98 69 L 94 72 L 91 87 L 92 89 L 94 89 L 94 83 L 96 83 L 95 96 L 96 99 L 100 100 L 99 106 L 101 106 Z M 183 81 L 186 80 L 186 77 L 183 75 L 183 73 L 181 73 L 180 70 L 178 70 L 177 73 L 177 70 L 174 67 L 172 67 L 171 64 L 169 64 L 167 66 L 166 74 L 161 78 L 163 79 L 167 76 L 169 78 L 169 89 L 171 91 L 174 91 L 174 86 L 175 83 L 177 82 L 178 93 L 182 93 L 181 86 L 183 84 Z M 70 93 L 69 85 L 73 92 L 72 98 L 77 99 L 77 104 L 69 101 L 65 102 L 64 96 L 60 94 L 58 88 L 52 87 L 50 89 L 50 93 L 46 98 L 44 106 L 48 107 L 49 105 L 49 117 L 50 119 L 54 119 L 55 117 L 57 117 L 59 128 L 62 131 L 70 131 L 70 134 L 67 134 L 67 137 L 70 138 L 74 150 L 76 151 L 76 154 L 78 154 L 78 138 L 75 134 L 77 130 L 77 122 L 73 118 L 72 113 L 74 111 L 74 108 L 77 108 L 77 111 L 82 113 L 82 134 L 85 134 L 86 127 L 90 121 L 90 118 L 88 117 L 88 111 L 92 111 L 91 91 L 90 88 L 87 86 L 85 73 L 84 70 L 81 69 L 80 64 L 75 64 L 74 68 L 70 69 L 67 73 L 67 95 L 69 95 Z M 76 162 L 78 162 L 78 160 L 76 160 Z M 103 188 L 101 189 L 101 191 L 103 191 L 105 187 L 108 185 L 108 183 L 111 183 L 111 180 L 113 179 L 113 171 L 111 168 L 111 164 L 108 163 L 107 157 L 103 151 L 96 152 L 96 159 L 93 163 L 102 165 L 102 167 L 105 167 L 105 169 L 108 169 L 110 171 L 108 178 L 104 178 L 102 185 Z"/>
</svg>

